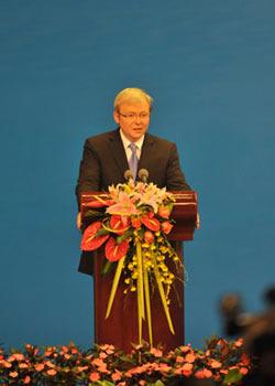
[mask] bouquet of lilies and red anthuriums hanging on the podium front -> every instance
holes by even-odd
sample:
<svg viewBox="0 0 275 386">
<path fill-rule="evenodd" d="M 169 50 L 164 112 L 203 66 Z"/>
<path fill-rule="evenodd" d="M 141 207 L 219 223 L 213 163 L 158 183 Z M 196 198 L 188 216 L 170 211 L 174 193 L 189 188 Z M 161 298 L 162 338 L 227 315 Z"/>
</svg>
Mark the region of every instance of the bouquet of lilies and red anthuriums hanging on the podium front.
<svg viewBox="0 0 275 386">
<path fill-rule="evenodd" d="M 150 344 L 152 339 L 151 292 L 156 287 L 168 326 L 174 333 L 169 313 L 169 292 L 176 280 L 175 272 L 183 264 L 168 242 L 173 228 L 169 218 L 174 195 L 153 183 L 128 183 L 109 186 L 107 194 L 94 195 L 86 203 L 86 223 L 81 249 L 96 250 L 105 244 L 106 269 L 118 261 L 107 307 L 110 315 L 113 299 L 123 272 L 124 293 L 136 292 L 139 343 L 142 342 L 142 320 L 147 321 Z M 175 270 L 169 269 L 169 261 Z"/>
</svg>

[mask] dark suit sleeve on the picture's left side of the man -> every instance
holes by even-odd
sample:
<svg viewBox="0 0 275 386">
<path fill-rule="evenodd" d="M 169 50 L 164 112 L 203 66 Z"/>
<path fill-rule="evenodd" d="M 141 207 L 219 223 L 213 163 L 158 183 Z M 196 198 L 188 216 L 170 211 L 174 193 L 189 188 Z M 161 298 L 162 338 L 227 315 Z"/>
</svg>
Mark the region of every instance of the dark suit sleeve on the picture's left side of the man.
<svg viewBox="0 0 275 386">
<path fill-rule="evenodd" d="M 78 207 L 80 206 L 81 192 L 100 190 L 100 161 L 89 140 L 84 146 L 82 159 L 79 167 L 79 176 L 76 185 Z"/>
</svg>

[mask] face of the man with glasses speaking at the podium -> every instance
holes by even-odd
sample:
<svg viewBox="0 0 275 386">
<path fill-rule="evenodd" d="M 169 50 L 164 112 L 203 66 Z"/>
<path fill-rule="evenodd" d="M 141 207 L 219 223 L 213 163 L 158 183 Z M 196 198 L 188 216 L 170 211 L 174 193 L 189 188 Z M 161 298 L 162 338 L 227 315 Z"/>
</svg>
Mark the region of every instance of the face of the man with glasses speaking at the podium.
<svg viewBox="0 0 275 386">
<path fill-rule="evenodd" d="M 131 142 L 135 142 L 148 129 L 150 106 L 146 100 L 124 103 L 120 106 L 119 111 L 113 111 L 113 119 L 124 136 Z"/>
</svg>

